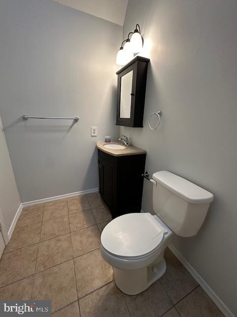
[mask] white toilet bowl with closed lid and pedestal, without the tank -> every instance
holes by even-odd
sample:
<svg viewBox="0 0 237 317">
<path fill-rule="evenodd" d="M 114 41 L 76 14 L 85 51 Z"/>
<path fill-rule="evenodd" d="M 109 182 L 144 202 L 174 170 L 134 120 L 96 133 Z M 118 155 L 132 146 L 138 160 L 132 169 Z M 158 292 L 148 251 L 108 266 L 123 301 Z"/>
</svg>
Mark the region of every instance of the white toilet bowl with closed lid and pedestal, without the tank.
<svg viewBox="0 0 237 317">
<path fill-rule="evenodd" d="M 172 231 L 150 213 L 128 213 L 101 234 L 101 255 L 114 267 L 118 288 L 128 295 L 147 289 L 165 270 L 164 250 Z"/>
</svg>

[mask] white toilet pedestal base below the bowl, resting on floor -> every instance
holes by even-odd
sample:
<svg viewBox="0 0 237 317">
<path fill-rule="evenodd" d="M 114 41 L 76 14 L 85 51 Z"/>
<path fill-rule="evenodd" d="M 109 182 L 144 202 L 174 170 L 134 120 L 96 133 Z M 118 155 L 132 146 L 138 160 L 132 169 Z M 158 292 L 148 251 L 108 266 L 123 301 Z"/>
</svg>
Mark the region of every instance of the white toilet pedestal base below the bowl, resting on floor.
<svg viewBox="0 0 237 317">
<path fill-rule="evenodd" d="M 159 257 L 160 258 L 160 257 Z M 137 295 L 156 282 L 166 270 L 164 258 L 139 269 L 119 269 L 114 267 L 115 283 L 127 295 Z"/>
</svg>

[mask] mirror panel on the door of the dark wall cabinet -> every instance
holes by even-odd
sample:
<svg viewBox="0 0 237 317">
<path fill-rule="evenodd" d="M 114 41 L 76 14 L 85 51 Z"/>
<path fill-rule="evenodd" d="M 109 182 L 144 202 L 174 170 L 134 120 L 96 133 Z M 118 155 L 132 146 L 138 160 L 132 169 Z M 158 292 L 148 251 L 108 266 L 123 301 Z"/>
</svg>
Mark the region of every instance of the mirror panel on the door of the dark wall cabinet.
<svg viewBox="0 0 237 317">
<path fill-rule="evenodd" d="M 132 98 L 132 76 L 133 70 L 129 71 L 121 77 L 120 91 L 120 118 L 131 117 L 131 98 Z"/>
</svg>

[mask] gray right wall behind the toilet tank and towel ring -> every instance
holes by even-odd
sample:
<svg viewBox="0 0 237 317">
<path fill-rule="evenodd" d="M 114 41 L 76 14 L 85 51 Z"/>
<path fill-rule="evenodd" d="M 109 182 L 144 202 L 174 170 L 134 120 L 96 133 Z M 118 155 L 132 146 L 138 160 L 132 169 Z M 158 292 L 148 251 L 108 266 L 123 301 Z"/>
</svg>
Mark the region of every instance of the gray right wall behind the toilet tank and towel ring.
<svg viewBox="0 0 237 317">
<path fill-rule="evenodd" d="M 120 129 L 170 170 L 214 194 L 193 238 L 174 244 L 237 315 L 237 1 L 129 0 L 124 38 L 139 23 L 151 62 L 144 128 Z M 148 118 L 161 109 L 160 127 Z M 145 181 L 143 210 L 152 210 Z"/>
</svg>

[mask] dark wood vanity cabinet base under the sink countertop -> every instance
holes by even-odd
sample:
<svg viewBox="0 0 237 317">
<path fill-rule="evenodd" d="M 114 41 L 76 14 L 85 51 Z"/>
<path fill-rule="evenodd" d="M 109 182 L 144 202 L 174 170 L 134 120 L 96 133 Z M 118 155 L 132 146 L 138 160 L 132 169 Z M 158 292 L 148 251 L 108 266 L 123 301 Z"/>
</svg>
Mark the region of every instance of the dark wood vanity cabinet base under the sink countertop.
<svg viewBox="0 0 237 317">
<path fill-rule="evenodd" d="M 115 157 L 98 151 L 100 194 L 113 218 L 140 212 L 146 154 Z"/>
</svg>

